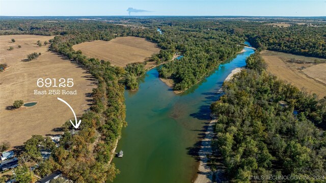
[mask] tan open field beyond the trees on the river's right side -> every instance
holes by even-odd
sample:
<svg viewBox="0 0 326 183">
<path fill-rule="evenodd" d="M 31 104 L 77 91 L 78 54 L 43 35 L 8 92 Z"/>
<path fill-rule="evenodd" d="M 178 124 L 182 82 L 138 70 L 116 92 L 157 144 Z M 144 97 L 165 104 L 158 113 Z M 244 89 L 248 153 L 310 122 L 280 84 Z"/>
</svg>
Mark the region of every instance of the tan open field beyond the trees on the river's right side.
<svg viewBox="0 0 326 183">
<path fill-rule="evenodd" d="M 325 60 L 321 58 L 297 56 L 288 53 L 265 50 L 261 52 L 262 57 L 268 64 L 267 71 L 275 74 L 299 89 L 305 88 L 307 92 L 317 94 L 319 98 L 326 96 L 326 65 L 312 64 L 313 60 Z M 295 58 L 305 60 L 305 64 L 289 63 L 288 60 Z M 306 68 L 306 69 L 305 69 Z M 306 70 L 306 71 L 305 71 Z"/>
</svg>

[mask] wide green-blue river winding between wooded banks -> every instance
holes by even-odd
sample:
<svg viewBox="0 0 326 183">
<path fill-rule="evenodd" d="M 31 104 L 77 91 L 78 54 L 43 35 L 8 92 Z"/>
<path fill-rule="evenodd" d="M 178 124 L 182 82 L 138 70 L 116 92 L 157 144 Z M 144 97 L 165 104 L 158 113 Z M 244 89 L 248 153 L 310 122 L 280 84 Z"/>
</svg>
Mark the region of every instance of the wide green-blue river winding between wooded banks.
<svg viewBox="0 0 326 183">
<path fill-rule="evenodd" d="M 113 163 L 121 171 L 114 182 L 191 182 L 198 171 L 196 151 L 209 123 L 212 102 L 225 78 L 246 65 L 251 48 L 230 59 L 181 94 L 174 94 L 158 78 L 157 69 L 140 78 L 136 92 L 125 91 L 127 128 L 117 150 L 123 158 Z"/>
</svg>

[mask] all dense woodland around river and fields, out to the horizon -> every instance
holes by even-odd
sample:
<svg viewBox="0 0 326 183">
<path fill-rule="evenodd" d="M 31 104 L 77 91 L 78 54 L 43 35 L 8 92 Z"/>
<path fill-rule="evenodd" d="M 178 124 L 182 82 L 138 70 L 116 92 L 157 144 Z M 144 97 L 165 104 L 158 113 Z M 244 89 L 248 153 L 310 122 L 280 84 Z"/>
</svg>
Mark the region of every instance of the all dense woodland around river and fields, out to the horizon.
<svg viewBox="0 0 326 183">
<path fill-rule="evenodd" d="M 161 48 L 148 62 L 164 63 L 159 76 L 173 79 L 175 90 L 186 90 L 202 80 L 239 52 L 244 40 L 249 40 L 259 50 L 326 57 L 324 27 L 293 25 L 281 28 L 257 21 L 211 17 L 108 18 L 113 21 L 101 18 L 5 18 L 0 23 L 0 35 L 56 35 L 50 40 L 50 50 L 85 67 L 98 85 L 92 93 L 93 105 L 81 118 L 83 123 L 78 134 L 69 132 L 67 121 L 62 127 L 65 133 L 59 147 L 41 136 L 33 136 L 25 142 L 19 157 L 22 165 L 17 171 L 22 177 L 20 182 L 29 182 L 23 180 L 27 175 L 32 177 L 25 166 L 30 161 L 39 164 L 35 170 L 38 175 L 60 169 L 76 182 L 113 180 L 119 172 L 110 160 L 121 129 L 126 126 L 124 88 L 138 88 L 137 77 L 145 74 L 145 63 L 114 67 L 107 60 L 88 58 L 81 51 L 73 50 L 75 44 L 110 41 L 122 36 L 146 38 Z M 121 22 L 145 28 L 113 24 Z M 157 27 L 162 34 L 156 31 Z M 172 60 L 176 53 L 183 57 Z M 321 127 L 326 118 L 325 99 L 318 101 L 266 74 L 257 54 L 251 56 L 247 64 L 250 70 L 226 83 L 226 95 L 212 105 L 212 112 L 218 116 L 216 132 L 219 138 L 215 145 L 221 150 L 227 177 L 246 180 L 243 175 L 268 172 L 324 174 L 326 135 Z M 2 64 L 0 71 L 6 67 Z M 124 85 L 118 82 L 121 78 L 125 78 Z M 50 158 L 43 160 L 40 150 L 51 151 Z"/>
</svg>

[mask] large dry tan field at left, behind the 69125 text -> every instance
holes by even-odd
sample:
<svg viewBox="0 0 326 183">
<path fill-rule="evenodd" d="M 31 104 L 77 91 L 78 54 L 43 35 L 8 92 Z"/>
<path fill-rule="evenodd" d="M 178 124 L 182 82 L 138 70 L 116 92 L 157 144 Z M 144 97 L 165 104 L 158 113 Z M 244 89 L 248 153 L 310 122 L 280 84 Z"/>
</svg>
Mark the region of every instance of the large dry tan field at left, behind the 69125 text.
<svg viewBox="0 0 326 183">
<path fill-rule="evenodd" d="M 16 40 L 15 43 L 11 39 Z M 73 119 L 71 110 L 57 97 L 67 101 L 77 115 L 84 113 L 90 106 L 89 94 L 97 87 L 87 70 L 71 63 L 70 60 L 47 51 L 47 46 L 37 46 L 53 37 L 33 35 L 0 36 L 1 63 L 9 68 L 0 73 L 0 142 L 8 141 L 11 146 L 22 145 L 32 135 L 57 134 L 65 121 Z M 13 50 L 7 50 L 13 45 Z M 21 45 L 21 48 L 17 48 Z M 27 54 L 41 53 L 36 60 L 23 62 Z M 58 87 L 38 87 L 38 78 L 73 78 L 74 85 L 66 90 L 77 90 L 77 95 L 34 95 L 34 90 L 58 89 Z M 57 83 L 58 84 L 58 83 Z M 15 100 L 25 103 L 37 102 L 33 107 L 8 110 Z M 83 121 L 82 121 L 83 123 Z"/>
</svg>

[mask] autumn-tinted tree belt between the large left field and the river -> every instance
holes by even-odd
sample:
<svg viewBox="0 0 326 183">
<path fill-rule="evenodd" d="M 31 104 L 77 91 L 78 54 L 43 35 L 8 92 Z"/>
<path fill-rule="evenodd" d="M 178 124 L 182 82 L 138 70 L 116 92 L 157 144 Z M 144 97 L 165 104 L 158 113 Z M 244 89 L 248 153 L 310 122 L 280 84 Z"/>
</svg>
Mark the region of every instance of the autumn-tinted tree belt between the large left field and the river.
<svg viewBox="0 0 326 183">
<path fill-rule="evenodd" d="M 72 180 L 103 182 L 107 179 L 113 180 L 118 172 L 109 161 L 114 156 L 112 150 L 121 135 L 121 129 L 126 126 L 124 86 L 118 83 L 124 71 L 122 68 L 111 66 L 110 62 L 87 58 L 72 49 L 71 46 L 80 39 L 92 39 L 96 36 L 89 37 L 88 34 L 80 32 L 64 37 L 57 36 L 50 46 L 52 51 L 85 66 L 97 79 L 98 87 L 93 89 L 94 105 L 89 112 L 83 114 L 83 123 L 79 127 L 81 130 L 78 135 L 71 136 L 66 129 L 60 147 L 52 153 L 52 158 L 40 167 L 57 165 Z M 106 34 L 107 38 L 113 37 L 108 33 L 103 34 Z"/>
</svg>

